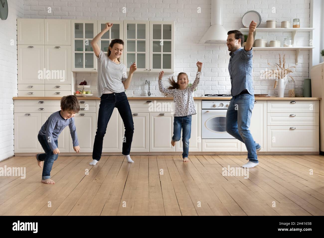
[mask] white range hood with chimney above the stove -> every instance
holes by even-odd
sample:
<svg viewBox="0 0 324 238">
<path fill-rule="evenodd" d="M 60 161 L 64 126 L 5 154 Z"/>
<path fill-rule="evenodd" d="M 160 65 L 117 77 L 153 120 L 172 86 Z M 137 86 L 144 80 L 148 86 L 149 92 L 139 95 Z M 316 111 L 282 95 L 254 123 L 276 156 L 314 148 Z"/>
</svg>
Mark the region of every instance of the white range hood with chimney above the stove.
<svg viewBox="0 0 324 238">
<path fill-rule="evenodd" d="M 207 32 L 200 39 L 198 44 L 225 44 L 227 40 L 227 30 L 222 25 L 222 0 L 211 0 L 211 22 Z"/>
</svg>

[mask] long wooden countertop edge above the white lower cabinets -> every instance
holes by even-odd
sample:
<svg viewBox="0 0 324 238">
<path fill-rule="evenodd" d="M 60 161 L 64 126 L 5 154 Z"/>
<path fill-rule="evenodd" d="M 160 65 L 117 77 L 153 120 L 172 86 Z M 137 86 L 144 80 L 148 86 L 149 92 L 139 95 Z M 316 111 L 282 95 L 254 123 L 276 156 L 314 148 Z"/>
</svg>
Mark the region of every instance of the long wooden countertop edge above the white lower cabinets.
<svg viewBox="0 0 324 238">
<path fill-rule="evenodd" d="M 232 97 L 193 97 L 194 100 L 230 100 Z M 254 97 L 255 100 L 321 100 L 321 97 Z M 13 100 L 61 100 L 61 97 L 13 97 Z M 100 100 L 100 97 L 78 97 L 79 100 Z M 173 97 L 127 97 L 128 100 L 173 100 Z"/>
</svg>

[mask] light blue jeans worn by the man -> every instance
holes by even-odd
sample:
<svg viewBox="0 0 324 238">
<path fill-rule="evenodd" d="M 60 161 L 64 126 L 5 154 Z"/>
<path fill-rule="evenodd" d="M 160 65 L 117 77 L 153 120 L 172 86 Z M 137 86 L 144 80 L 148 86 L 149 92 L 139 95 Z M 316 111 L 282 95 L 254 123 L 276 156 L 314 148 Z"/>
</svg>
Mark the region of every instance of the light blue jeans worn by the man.
<svg viewBox="0 0 324 238">
<path fill-rule="evenodd" d="M 226 113 L 226 131 L 243 142 L 248 150 L 249 161 L 259 163 L 256 150 L 261 146 L 250 133 L 250 120 L 254 107 L 254 95 L 249 93 L 233 96 Z"/>
</svg>

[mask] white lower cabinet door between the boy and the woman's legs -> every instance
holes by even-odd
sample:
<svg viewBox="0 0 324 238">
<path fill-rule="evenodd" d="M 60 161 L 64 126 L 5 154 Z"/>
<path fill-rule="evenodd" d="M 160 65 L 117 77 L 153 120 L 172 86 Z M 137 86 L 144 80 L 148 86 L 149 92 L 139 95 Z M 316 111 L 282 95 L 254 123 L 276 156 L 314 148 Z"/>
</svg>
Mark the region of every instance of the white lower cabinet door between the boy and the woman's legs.
<svg viewBox="0 0 324 238">
<path fill-rule="evenodd" d="M 92 152 L 96 133 L 96 113 L 76 113 L 74 121 L 80 152 Z M 71 136 L 69 136 L 69 152 L 74 152 Z"/>
</svg>

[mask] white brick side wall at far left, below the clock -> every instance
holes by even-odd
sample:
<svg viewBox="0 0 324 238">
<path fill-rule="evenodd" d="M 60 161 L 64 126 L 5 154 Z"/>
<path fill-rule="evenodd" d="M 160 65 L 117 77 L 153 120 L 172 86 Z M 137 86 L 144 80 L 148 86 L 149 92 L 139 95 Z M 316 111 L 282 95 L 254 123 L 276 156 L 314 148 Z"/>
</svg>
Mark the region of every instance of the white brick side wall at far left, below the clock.
<svg viewBox="0 0 324 238">
<path fill-rule="evenodd" d="M 23 0 L 8 1 L 8 9 L 8 18 L 0 20 L 0 161 L 14 155 L 12 97 L 17 96 L 17 18 L 23 17 Z"/>
</svg>

